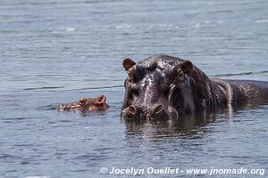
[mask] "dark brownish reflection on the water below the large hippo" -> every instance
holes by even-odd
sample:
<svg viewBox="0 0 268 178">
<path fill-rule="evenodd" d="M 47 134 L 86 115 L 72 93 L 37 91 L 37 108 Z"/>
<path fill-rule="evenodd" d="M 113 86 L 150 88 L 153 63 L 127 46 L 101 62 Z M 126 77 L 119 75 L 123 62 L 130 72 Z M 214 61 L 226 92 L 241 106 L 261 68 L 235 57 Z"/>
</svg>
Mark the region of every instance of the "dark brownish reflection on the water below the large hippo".
<svg viewBox="0 0 268 178">
<path fill-rule="evenodd" d="M 265 105 L 264 105 L 265 106 Z M 200 132 L 214 132 L 206 129 L 205 125 L 214 123 L 216 117 L 221 115 L 226 121 L 232 121 L 233 116 L 239 111 L 259 109 L 263 106 L 259 103 L 249 103 L 244 106 L 218 109 L 216 113 L 202 113 L 181 115 L 179 119 L 163 120 L 137 120 L 123 119 L 126 125 L 126 134 L 142 134 L 147 137 L 178 137 L 185 138 L 200 134 Z"/>
</svg>

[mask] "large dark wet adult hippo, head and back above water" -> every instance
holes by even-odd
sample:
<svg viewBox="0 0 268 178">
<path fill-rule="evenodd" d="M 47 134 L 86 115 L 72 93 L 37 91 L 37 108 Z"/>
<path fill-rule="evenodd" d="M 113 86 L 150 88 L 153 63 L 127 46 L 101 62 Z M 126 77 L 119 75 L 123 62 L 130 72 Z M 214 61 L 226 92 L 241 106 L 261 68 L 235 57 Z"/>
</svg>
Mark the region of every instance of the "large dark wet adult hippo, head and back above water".
<svg viewBox="0 0 268 178">
<path fill-rule="evenodd" d="M 179 118 L 180 115 L 268 103 L 268 82 L 210 79 L 191 61 L 153 55 L 122 63 L 129 77 L 121 117 Z"/>
</svg>

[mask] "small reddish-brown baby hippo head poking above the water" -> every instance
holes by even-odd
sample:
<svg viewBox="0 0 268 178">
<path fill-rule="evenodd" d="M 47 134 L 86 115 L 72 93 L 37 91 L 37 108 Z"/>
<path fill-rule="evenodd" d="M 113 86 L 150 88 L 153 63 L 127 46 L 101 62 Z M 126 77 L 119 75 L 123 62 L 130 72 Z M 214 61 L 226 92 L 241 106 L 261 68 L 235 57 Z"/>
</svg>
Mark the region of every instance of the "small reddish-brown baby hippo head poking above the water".
<svg viewBox="0 0 268 178">
<path fill-rule="evenodd" d="M 80 111 L 105 110 L 109 108 L 108 104 L 105 101 L 106 101 L 105 95 L 100 95 L 99 97 L 95 99 L 83 97 L 79 101 L 76 101 L 76 102 L 71 102 L 69 104 L 60 104 L 57 106 L 57 109 L 60 111 L 63 111 L 63 110 L 80 110 Z"/>
</svg>

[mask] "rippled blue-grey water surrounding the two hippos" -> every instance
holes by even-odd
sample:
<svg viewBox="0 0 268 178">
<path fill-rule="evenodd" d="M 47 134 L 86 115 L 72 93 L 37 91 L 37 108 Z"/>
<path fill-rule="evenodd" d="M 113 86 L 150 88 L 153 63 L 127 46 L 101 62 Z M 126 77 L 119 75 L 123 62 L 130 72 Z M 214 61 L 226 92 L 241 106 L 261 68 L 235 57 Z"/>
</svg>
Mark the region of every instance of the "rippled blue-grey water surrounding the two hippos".
<svg viewBox="0 0 268 178">
<path fill-rule="evenodd" d="M 268 81 L 267 8 L 264 0 L 2 0 L 0 176 L 100 177 L 104 166 L 267 171 L 268 105 L 157 124 L 119 117 L 124 57 L 166 53 L 211 77 Z M 52 109 L 101 93 L 105 112 Z"/>
</svg>

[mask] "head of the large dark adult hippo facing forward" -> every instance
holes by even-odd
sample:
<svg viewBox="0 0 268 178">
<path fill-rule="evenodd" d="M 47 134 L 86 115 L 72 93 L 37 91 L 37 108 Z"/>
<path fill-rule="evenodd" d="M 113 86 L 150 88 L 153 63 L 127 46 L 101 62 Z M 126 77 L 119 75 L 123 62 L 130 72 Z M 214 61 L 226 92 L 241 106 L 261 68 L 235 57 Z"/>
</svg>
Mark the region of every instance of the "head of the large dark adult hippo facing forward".
<svg viewBox="0 0 268 178">
<path fill-rule="evenodd" d="M 178 118 L 194 108 L 194 81 L 188 76 L 190 61 L 122 62 L 129 77 L 125 80 L 125 98 L 121 117 L 126 119 Z"/>
</svg>

